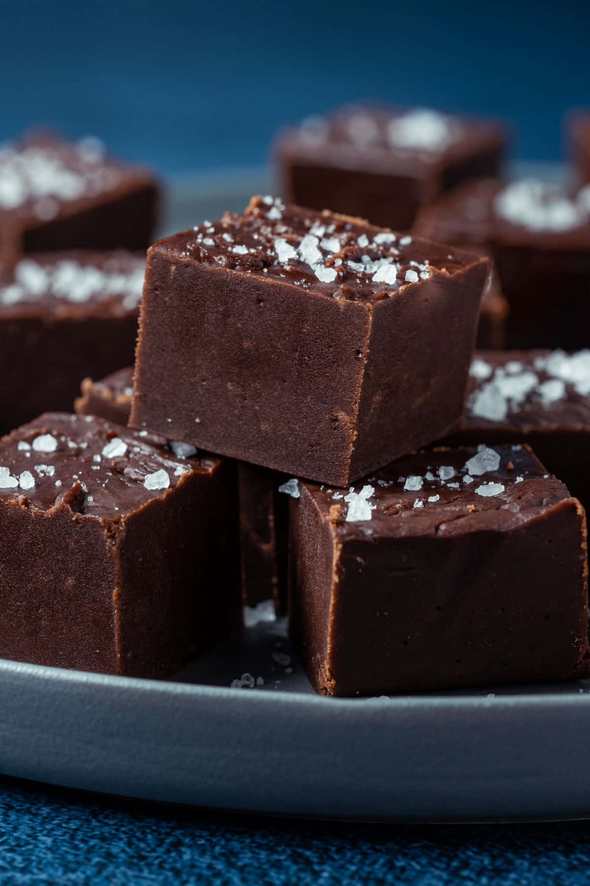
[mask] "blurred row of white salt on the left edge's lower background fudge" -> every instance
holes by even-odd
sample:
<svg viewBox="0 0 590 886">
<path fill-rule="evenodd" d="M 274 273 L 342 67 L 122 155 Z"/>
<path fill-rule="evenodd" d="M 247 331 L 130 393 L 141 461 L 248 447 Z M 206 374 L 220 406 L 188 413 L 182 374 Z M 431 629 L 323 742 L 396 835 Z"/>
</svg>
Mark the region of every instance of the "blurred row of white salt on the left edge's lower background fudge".
<svg viewBox="0 0 590 886">
<path fill-rule="evenodd" d="M 34 259 L 19 261 L 14 282 L 0 287 L 0 304 L 10 306 L 23 301 L 47 297 L 81 304 L 90 299 L 122 296 L 122 305 L 133 310 L 142 299 L 145 265 L 131 260 L 131 268 L 123 269 L 113 256 L 97 268 L 73 259 L 40 264 Z"/>
</svg>

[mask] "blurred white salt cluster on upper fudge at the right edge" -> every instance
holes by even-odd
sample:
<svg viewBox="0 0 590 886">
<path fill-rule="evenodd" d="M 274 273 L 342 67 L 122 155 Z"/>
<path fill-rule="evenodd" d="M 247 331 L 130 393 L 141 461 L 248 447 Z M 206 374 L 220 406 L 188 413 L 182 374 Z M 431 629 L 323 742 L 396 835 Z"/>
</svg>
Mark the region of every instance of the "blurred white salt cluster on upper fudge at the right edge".
<svg viewBox="0 0 590 886">
<path fill-rule="evenodd" d="M 496 213 L 533 231 L 562 233 L 590 223 L 584 191 L 571 197 L 563 188 L 526 178 L 506 185 L 495 197 Z"/>
</svg>

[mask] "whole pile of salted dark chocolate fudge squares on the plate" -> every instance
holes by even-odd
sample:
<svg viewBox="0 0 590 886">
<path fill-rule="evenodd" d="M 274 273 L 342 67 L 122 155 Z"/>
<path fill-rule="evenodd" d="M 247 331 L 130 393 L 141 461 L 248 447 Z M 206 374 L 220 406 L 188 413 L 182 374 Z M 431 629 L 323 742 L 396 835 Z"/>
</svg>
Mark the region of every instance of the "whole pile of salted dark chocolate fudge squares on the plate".
<svg viewBox="0 0 590 886">
<path fill-rule="evenodd" d="M 157 184 L 59 143 L 108 193 L 27 172 L 3 209 L 0 154 L 8 377 L 33 349 L 0 441 L 0 657 L 166 678 L 272 600 L 323 695 L 590 676 L 590 123 L 570 128 L 567 191 L 504 183 L 494 121 L 354 107 L 280 133 L 282 199 L 149 248 L 133 366 L 115 328 Z M 137 214 L 139 181 L 142 242 L 120 207 L 116 236 L 38 232 Z M 56 350 L 88 352 L 74 413 Z"/>
</svg>

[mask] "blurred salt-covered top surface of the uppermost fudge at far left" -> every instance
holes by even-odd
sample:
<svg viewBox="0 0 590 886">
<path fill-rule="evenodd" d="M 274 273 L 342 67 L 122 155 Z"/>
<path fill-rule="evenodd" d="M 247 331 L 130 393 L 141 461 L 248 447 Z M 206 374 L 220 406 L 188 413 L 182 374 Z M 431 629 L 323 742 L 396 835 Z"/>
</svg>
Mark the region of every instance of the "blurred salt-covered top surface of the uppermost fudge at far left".
<svg viewBox="0 0 590 886">
<path fill-rule="evenodd" d="M 5 213 L 52 221 L 68 204 L 151 181 L 147 169 L 108 157 L 93 137 L 70 142 L 40 132 L 0 146 L 0 218 Z"/>
</svg>

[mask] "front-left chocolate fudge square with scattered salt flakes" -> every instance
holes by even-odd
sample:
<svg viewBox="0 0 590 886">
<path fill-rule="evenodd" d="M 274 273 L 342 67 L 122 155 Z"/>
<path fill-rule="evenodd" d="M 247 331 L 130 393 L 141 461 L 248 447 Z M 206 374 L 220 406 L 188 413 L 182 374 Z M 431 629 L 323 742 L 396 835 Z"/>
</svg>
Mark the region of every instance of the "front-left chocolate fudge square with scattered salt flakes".
<svg viewBox="0 0 590 886">
<path fill-rule="evenodd" d="M 0 657 L 167 677 L 241 624 L 234 470 L 99 419 L 0 441 Z"/>
</svg>

